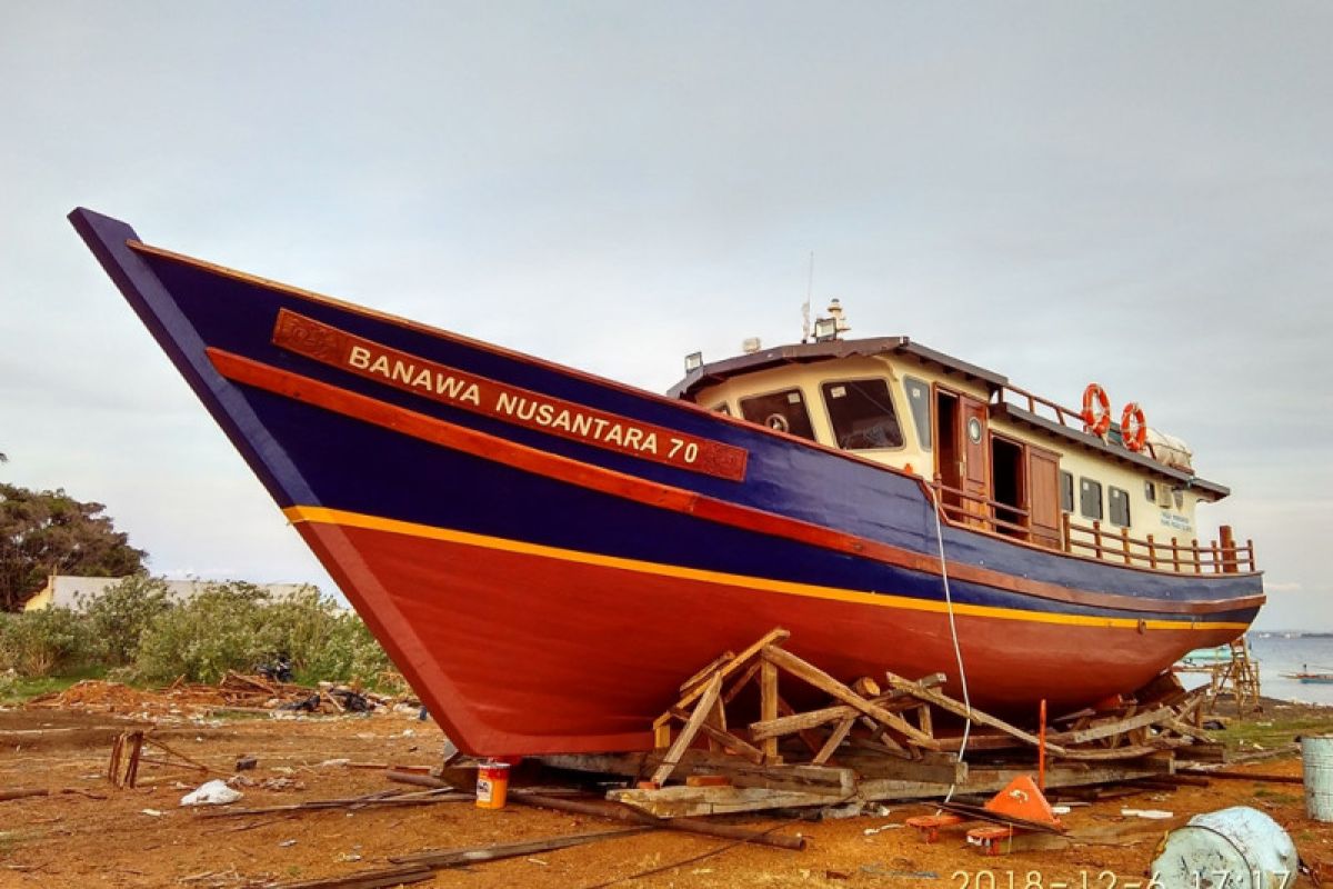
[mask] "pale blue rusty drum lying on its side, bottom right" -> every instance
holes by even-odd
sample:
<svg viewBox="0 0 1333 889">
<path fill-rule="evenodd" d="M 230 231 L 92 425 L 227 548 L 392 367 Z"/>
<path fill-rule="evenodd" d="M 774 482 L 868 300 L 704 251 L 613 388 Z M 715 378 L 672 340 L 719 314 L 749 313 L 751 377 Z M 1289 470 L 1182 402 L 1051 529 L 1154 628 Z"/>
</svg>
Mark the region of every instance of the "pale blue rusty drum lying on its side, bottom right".
<svg viewBox="0 0 1333 889">
<path fill-rule="evenodd" d="M 1166 834 L 1160 848 L 1152 880 L 1161 889 L 1224 882 L 1226 889 L 1286 889 L 1300 869 L 1286 832 L 1249 806 L 1196 814 L 1184 828 Z"/>
</svg>

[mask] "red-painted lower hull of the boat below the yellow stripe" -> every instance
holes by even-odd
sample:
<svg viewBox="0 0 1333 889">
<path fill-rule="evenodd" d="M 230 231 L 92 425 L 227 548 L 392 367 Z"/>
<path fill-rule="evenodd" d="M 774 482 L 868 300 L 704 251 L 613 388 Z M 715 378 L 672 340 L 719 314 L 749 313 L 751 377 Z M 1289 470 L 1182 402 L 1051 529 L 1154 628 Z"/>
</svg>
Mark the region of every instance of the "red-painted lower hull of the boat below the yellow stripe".
<svg viewBox="0 0 1333 889">
<path fill-rule="evenodd" d="M 677 685 L 774 626 L 842 680 L 957 669 L 948 617 L 303 521 L 311 548 L 467 753 L 643 750 Z M 973 704 L 1058 712 L 1234 629 L 957 617 Z M 950 682 L 954 694 L 960 689 Z M 785 692 L 784 692 L 785 694 Z"/>
</svg>

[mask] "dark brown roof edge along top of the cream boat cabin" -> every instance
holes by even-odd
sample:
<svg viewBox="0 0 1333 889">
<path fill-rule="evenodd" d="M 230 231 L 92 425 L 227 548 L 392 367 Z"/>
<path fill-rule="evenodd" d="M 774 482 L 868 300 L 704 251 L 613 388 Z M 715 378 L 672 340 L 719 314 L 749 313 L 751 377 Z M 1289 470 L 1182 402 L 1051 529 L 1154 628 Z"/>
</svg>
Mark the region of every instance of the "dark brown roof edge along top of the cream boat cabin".
<svg viewBox="0 0 1333 889">
<path fill-rule="evenodd" d="M 926 364 L 941 368 L 945 373 L 957 373 L 965 380 L 977 380 L 986 384 L 992 393 L 1010 388 L 1008 377 L 969 364 L 944 352 L 936 352 L 928 347 L 913 343 L 905 336 L 881 336 L 865 340 L 830 340 L 825 343 L 793 343 L 778 345 L 772 349 L 761 349 L 750 355 L 740 355 L 733 359 L 722 359 L 704 364 L 690 371 L 676 385 L 668 389 L 666 395 L 673 399 L 690 399 L 698 395 L 700 389 L 717 385 L 732 377 L 768 371 L 786 364 L 813 364 L 816 361 L 830 361 L 850 357 L 874 357 L 878 355 L 908 355 Z M 1062 423 L 1056 423 L 1040 415 L 1024 411 L 1006 401 L 993 401 L 990 416 L 1006 416 L 1033 429 L 1062 439 L 1070 444 L 1088 448 L 1112 460 L 1129 462 L 1145 472 L 1170 480 L 1172 482 L 1192 488 L 1206 494 L 1212 500 L 1221 500 L 1230 494 L 1230 489 L 1214 481 L 1200 478 L 1198 476 L 1157 462 L 1146 454 L 1134 453 L 1125 448 L 1114 446 L 1100 437 L 1074 429 Z M 1114 424 L 1113 424 L 1114 427 Z"/>
</svg>

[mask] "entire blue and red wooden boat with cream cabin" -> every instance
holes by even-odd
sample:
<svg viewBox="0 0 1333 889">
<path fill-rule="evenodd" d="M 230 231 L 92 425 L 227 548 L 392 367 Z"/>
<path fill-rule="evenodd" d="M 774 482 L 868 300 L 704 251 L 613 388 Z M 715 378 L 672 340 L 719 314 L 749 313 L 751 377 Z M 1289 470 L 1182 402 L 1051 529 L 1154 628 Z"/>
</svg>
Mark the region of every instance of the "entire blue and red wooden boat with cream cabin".
<svg viewBox="0 0 1333 889">
<path fill-rule="evenodd" d="M 840 678 L 957 694 L 961 656 L 978 706 L 1077 708 L 1264 601 L 1252 544 L 1194 541 L 1228 490 L 1098 392 L 1088 432 L 824 319 L 664 397 L 71 220 L 465 752 L 649 748 L 682 677 L 774 626 Z"/>
</svg>

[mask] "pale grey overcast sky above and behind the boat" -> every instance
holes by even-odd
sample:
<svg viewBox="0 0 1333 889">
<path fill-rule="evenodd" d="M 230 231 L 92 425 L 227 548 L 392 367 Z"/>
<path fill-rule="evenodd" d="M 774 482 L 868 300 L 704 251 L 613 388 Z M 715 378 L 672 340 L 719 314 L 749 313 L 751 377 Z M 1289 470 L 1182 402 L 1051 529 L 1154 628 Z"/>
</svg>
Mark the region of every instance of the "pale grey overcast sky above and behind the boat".
<svg viewBox="0 0 1333 889">
<path fill-rule="evenodd" d="M 332 589 L 75 205 L 655 391 L 798 339 L 813 251 L 853 336 L 1140 401 L 1258 625 L 1333 629 L 1330 45 L 1325 0 L 0 0 L 0 478 Z"/>
</svg>

